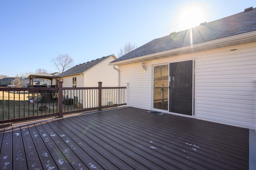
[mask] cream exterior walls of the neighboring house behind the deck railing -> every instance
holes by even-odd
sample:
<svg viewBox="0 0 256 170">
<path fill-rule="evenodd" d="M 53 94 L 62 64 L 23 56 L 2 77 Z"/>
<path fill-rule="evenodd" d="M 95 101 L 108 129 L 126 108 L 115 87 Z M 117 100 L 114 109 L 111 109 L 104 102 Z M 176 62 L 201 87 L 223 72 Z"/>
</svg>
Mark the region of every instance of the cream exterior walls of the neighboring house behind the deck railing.
<svg viewBox="0 0 256 170">
<path fill-rule="evenodd" d="M 76 77 L 76 87 L 98 87 L 99 81 L 102 82 L 102 87 L 117 87 L 118 72 L 113 69 L 112 66 L 108 65 L 108 63 L 110 63 L 114 59 L 115 58 L 112 56 L 108 57 L 107 59 L 98 63 L 98 65 L 95 65 L 91 69 L 85 71 L 83 74 L 60 77 L 60 79 L 63 79 L 63 87 L 72 87 L 73 77 Z M 83 108 L 97 107 L 97 94 L 97 90 L 80 90 L 80 94 L 79 91 L 75 91 L 75 94 L 73 94 L 73 91 L 70 90 L 68 93 L 67 91 L 65 91 L 65 97 L 67 95 L 69 98 L 77 97 L 79 103 L 82 103 L 83 99 Z M 107 94 L 103 96 L 107 96 Z M 107 97 L 106 99 L 103 99 L 103 104 L 105 103 L 105 101 L 112 102 L 110 101 L 110 99 L 107 99 Z"/>
</svg>

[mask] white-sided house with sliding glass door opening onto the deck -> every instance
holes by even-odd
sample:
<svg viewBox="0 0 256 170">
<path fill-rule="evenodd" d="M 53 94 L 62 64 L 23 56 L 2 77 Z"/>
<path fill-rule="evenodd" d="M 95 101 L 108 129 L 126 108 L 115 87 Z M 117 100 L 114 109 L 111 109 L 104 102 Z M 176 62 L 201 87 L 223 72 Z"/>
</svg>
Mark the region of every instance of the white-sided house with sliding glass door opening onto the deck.
<svg viewBox="0 0 256 170">
<path fill-rule="evenodd" d="M 129 83 L 128 106 L 256 129 L 255 8 L 152 40 L 110 65 Z"/>
</svg>

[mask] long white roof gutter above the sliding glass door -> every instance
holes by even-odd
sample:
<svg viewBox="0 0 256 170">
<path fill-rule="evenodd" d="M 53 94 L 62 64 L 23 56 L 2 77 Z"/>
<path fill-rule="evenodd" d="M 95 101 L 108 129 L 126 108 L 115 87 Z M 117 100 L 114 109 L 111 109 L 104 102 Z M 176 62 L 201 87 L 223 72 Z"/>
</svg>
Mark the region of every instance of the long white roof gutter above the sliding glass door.
<svg viewBox="0 0 256 170">
<path fill-rule="evenodd" d="M 116 61 L 116 62 L 113 62 L 113 63 L 109 63 L 108 65 L 122 65 L 122 64 L 125 64 L 125 63 L 134 63 L 134 62 L 136 62 L 136 60 L 149 59 L 149 58 L 155 57 L 155 56 L 170 55 L 170 54 L 174 54 L 174 53 L 178 53 L 178 52 L 184 52 L 184 51 L 191 51 L 193 49 L 200 49 L 200 48 L 209 47 L 209 46 L 212 46 L 212 45 L 220 45 L 220 44 L 223 44 L 223 43 L 228 43 L 228 42 L 238 41 L 238 40 L 245 40 L 245 39 L 248 39 L 248 38 L 255 38 L 255 37 L 256 37 L 256 31 L 253 31 L 253 32 L 248 32 L 248 33 L 244 33 L 244 34 L 238 34 L 238 35 L 235 35 L 235 36 L 226 37 L 226 38 L 220 38 L 220 39 L 212 40 L 212 41 L 208 41 L 208 42 L 188 45 L 188 46 L 185 46 L 185 47 L 170 49 L 170 50 L 167 50 L 167 51 L 161 51 L 161 52 L 158 52 L 158 53 L 143 55 L 143 56 L 140 56 L 140 57 L 135 57 L 135 58 L 126 59 L 126 60 L 122 60 L 122 61 Z M 192 51 L 191 51 L 191 53 L 192 53 Z"/>
</svg>

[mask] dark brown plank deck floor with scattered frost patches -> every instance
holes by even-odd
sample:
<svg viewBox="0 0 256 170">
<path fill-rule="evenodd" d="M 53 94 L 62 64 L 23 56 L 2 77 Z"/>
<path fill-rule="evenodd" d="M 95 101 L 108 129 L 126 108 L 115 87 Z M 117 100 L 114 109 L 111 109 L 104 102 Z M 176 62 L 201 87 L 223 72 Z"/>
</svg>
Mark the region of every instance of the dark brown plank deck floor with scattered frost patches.
<svg viewBox="0 0 256 170">
<path fill-rule="evenodd" d="M 0 129 L 2 169 L 248 169 L 248 129 L 126 107 Z"/>
</svg>

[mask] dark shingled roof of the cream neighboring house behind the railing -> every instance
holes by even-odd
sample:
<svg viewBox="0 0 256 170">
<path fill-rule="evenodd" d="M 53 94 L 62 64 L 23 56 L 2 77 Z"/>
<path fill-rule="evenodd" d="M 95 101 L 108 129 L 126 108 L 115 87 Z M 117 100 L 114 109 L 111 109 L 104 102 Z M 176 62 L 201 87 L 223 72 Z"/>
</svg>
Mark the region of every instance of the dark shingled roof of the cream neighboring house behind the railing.
<svg viewBox="0 0 256 170">
<path fill-rule="evenodd" d="M 102 62 L 103 60 L 107 59 L 110 56 L 114 56 L 114 54 L 76 65 L 76 66 L 64 71 L 63 73 L 60 73 L 58 75 L 58 77 L 83 73 L 84 71 L 90 69 L 94 65 L 97 65 L 98 63 Z"/>
</svg>

